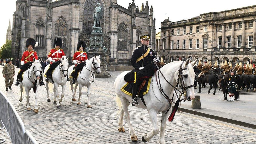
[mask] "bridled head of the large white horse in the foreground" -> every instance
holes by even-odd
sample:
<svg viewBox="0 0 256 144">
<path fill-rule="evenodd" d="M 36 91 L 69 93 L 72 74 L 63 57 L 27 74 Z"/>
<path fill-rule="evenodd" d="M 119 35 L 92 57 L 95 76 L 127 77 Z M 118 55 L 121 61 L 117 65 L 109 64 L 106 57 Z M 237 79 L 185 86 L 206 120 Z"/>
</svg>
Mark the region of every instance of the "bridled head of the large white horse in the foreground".
<svg viewBox="0 0 256 144">
<path fill-rule="evenodd" d="M 193 61 L 189 63 L 189 60 L 186 60 L 181 67 L 181 72 L 176 71 L 175 77 L 176 82 L 179 83 L 180 86 L 182 86 L 186 90 L 185 98 L 186 100 L 192 100 L 195 98 L 195 88 L 194 88 L 194 79 L 195 79 L 195 72 L 193 69 L 193 66 L 196 65 L 196 61 Z M 179 72 L 181 73 L 181 77 L 178 81 Z"/>
</svg>

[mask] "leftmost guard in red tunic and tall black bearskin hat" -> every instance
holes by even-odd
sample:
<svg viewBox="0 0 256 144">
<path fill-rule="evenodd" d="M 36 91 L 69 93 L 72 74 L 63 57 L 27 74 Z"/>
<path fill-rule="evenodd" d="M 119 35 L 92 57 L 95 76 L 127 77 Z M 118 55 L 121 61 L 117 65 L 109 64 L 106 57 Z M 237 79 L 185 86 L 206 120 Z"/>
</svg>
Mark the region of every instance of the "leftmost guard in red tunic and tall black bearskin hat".
<svg viewBox="0 0 256 144">
<path fill-rule="evenodd" d="M 19 85 L 22 73 L 31 66 L 31 64 L 33 63 L 33 58 L 38 60 L 37 53 L 36 51 L 33 50 L 37 45 L 38 45 L 38 42 L 36 42 L 33 38 L 27 39 L 26 47 L 28 48 L 28 50 L 23 52 L 22 58 L 20 60 L 20 64 L 22 66 L 20 67 L 20 71 L 18 72 L 17 80 L 14 84 L 15 86 Z M 42 81 L 42 79 L 43 79 L 42 72 L 40 72 L 40 85 L 44 85 L 44 82 Z"/>
</svg>

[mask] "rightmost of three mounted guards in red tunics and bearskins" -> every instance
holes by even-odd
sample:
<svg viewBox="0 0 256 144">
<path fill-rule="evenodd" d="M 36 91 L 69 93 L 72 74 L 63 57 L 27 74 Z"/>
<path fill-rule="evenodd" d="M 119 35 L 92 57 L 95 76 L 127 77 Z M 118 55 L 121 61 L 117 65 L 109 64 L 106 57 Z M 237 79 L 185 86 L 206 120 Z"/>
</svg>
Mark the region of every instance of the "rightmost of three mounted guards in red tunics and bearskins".
<svg viewBox="0 0 256 144">
<path fill-rule="evenodd" d="M 77 52 L 74 53 L 74 56 L 72 58 L 72 62 L 75 64 L 74 67 L 74 73 L 73 73 L 73 81 L 72 83 L 75 84 L 75 79 L 77 78 L 78 72 L 83 68 L 85 64 L 85 60 L 87 60 L 87 54 L 86 52 L 83 52 L 83 50 L 86 48 L 86 44 L 83 40 L 78 41 L 77 43 Z"/>
</svg>

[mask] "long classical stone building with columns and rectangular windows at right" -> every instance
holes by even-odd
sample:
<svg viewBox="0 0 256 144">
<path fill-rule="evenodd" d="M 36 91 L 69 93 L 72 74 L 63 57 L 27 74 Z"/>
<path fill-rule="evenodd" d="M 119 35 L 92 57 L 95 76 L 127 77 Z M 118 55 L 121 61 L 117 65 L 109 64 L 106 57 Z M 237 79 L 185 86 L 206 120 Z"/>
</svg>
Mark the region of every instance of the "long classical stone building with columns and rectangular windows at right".
<svg viewBox="0 0 256 144">
<path fill-rule="evenodd" d="M 161 22 L 160 56 L 166 62 L 211 60 L 256 63 L 256 5 Z"/>
</svg>

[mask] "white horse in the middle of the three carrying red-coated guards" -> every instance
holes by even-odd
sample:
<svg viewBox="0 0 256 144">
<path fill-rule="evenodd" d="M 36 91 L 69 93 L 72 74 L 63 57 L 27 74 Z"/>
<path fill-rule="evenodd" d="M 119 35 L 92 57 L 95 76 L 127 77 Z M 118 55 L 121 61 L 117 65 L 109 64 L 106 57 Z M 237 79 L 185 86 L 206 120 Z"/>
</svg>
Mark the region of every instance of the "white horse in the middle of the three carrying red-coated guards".
<svg viewBox="0 0 256 144">
<path fill-rule="evenodd" d="M 49 78 L 49 82 L 54 84 L 53 87 L 53 93 L 54 93 L 54 104 L 57 104 L 57 108 L 61 108 L 60 102 L 62 102 L 62 99 L 64 97 L 66 82 L 67 82 L 67 75 L 68 75 L 68 60 L 69 57 L 66 58 L 66 56 L 62 56 L 61 63 L 55 68 L 55 70 L 52 71 L 52 80 Z M 49 69 L 49 65 L 45 67 L 45 72 Z M 45 77 L 46 79 L 46 77 Z M 49 82 L 46 82 L 46 91 L 47 91 L 47 102 L 51 102 L 51 99 L 49 97 Z M 61 85 L 61 99 L 59 99 L 59 92 L 58 87 Z"/>
</svg>

